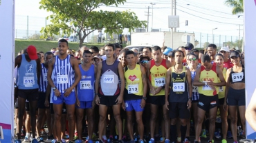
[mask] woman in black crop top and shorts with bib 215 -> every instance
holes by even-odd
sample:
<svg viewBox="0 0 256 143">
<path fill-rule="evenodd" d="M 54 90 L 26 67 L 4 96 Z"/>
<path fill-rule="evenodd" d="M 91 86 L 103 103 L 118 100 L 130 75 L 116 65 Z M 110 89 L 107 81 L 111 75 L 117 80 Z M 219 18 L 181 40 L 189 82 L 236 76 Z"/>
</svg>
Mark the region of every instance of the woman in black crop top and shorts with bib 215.
<svg viewBox="0 0 256 143">
<path fill-rule="evenodd" d="M 240 138 L 246 137 L 246 100 L 245 100 L 245 71 L 243 65 L 241 65 L 241 56 L 238 52 L 230 53 L 231 62 L 233 67 L 228 69 L 226 74 L 226 91 L 225 102 L 223 107 L 228 109 L 231 120 L 231 132 L 234 142 L 237 143 L 237 107 L 241 118 L 242 133 Z M 228 105 L 228 108 L 227 106 Z"/>
</svg>

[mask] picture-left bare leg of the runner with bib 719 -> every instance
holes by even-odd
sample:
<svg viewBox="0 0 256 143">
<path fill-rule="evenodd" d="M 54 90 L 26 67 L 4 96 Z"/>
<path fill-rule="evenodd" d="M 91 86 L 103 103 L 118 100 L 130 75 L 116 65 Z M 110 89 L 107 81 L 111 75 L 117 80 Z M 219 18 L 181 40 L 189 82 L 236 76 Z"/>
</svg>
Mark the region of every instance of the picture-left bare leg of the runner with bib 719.
<svg viewBox="0 0 256 143">
<path fill-rule="evenodd" d="M 62 106 L 63 104 L 53 104 L 53 110 L 54 110 L 54 125 L 55 125 L 55 131 L 56 131 L 56 139 L 57 141 L 61 141 L 60 133 L 61 133 L 61 126 L 60 123 L 62 120 Z"/>
</svg>

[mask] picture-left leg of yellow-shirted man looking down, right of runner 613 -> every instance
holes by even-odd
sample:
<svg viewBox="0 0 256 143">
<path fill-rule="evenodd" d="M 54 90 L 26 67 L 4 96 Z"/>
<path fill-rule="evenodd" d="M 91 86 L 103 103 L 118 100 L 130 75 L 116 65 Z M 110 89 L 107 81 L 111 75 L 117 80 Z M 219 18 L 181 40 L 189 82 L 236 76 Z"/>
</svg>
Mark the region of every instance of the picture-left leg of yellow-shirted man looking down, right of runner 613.
<svg viewBox="0 0 256 143">
<path fill-rule="evenodd" d="M 195 141 L 199 141 L 199 136 L 202 130 L 203 118 L 205 115 L 205 111 L 199 107 L 197 107 L 197 123 L 196 123 L 196 139 Z"/>
</svg>

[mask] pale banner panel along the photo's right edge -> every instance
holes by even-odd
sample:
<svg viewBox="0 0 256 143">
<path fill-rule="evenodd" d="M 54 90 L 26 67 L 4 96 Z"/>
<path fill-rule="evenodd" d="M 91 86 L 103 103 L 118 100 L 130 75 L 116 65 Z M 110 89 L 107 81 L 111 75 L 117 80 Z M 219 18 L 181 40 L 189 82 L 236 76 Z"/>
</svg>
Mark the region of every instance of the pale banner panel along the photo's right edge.
<svg viewBox="0 0 256 143">
<path fill-rule="evenodd" d="M 255 91 L 255 65 L 252 63 L 255 57 L 256 40 L 256 0 L 244 0 L 244 51 L 246 66 L 246 109 Z M 256 94 L 256 93 L 255 93 Z M 256 96 L 256 95 L 255 95 Z M 253 100 L 252 100 L 253 101 Z M 255 104 L 256 101 L 253 101 Z M 251 114 L 252 115 L 252 114 Z M 256 117 L 253 117 L 256 118 Z M 256 124 L 253 123 L 253 124 Z M 246 122 L 246 135 L 248 139 L 255 139 L 256 133 Z"/>
</svg>

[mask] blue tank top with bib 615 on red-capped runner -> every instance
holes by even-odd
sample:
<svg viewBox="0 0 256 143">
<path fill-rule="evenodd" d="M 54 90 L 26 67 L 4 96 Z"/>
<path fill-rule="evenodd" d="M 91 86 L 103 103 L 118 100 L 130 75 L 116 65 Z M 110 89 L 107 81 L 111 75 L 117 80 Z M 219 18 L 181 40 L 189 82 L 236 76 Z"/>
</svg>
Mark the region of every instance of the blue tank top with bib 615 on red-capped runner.
<svg viewBox="0 0 256 143">
<path fill-rule="evenodd" d="M 25 54 L 22 54 L 21 65 L 17 72 L 18 89 L 38 89 L 37 83 L 37 62 L 26 60 Z"/>
</svg>

